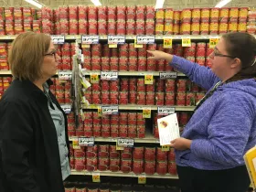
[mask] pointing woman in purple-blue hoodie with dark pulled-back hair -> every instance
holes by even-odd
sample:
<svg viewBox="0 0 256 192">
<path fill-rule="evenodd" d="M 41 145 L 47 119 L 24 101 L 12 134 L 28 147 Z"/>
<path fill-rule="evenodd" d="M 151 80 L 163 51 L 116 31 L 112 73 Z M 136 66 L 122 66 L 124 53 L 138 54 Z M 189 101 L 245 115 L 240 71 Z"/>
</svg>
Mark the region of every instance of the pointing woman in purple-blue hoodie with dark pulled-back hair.
<svg viewBox="0 0 256 192">
<path fill-rule="evenodd" d="M 243 155 L 256 144 L 256 39 L 247 33 L 220 38 L 212 69 L 161 51 L 174 68 L 208 90 L 176 149 L 182 192 L 244 192 L 250 179 Z"/>
</svg>

